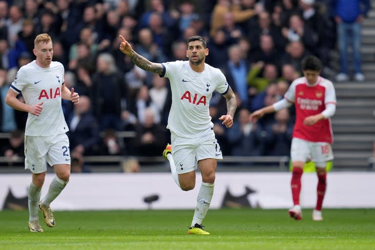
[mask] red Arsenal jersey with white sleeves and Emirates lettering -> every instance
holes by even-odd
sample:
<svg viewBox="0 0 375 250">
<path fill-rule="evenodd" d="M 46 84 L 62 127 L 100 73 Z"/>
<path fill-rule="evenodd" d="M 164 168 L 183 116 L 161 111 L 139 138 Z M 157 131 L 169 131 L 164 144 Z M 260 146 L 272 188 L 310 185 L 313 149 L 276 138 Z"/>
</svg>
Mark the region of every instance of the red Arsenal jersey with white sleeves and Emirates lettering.
<svg viewBox="0 0 375 250">
<path fill-rule="evenodd" d="M 319 76 L 314 85 L 309 85 L 305 77 L 294 80 L 285 93 L 285 99 L 295 105 L 295 125 L 293 138 L 309 142 L 333 142 L 331 119 L 324 119 L 312 126 L 303 124 L 306 117 L 321 113 L 326 104 L 336 104 L 333 83 Z"/>
</svg>

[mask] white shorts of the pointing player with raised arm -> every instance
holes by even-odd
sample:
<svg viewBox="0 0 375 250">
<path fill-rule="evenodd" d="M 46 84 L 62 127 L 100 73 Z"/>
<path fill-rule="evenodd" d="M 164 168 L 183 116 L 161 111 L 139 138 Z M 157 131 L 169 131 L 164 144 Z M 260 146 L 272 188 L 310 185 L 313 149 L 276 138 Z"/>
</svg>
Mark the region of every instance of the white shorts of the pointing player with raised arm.
<svg viewBox="0 0 375 250">
<path fill-rule="evenodd" d="M 221 160 L 223 154 L 217 143 L 215 134 L 199 138 L 185 138 L 171 133 L 172 158 L 179 174 L 194 171 L 198 167 L 198 161 L 212 158 Z"/>
</svg>

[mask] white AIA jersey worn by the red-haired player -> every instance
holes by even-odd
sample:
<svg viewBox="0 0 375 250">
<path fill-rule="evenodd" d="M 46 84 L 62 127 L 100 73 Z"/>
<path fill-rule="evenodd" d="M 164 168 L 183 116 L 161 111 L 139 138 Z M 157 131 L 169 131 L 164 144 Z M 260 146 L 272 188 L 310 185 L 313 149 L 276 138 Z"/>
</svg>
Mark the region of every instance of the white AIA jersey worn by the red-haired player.
<svg viewBox="0 0 375 250">
<path fill-rule="evenodd" d="M 43 102 L 39 116 L 28 113 L 25 135 L 50 136 L 69 131 L 62 113 L 61 97 L 64 83 L 64 66 L 60 62 L 51 62 L 48 68 L 42 68 L 36 61 L 22 66 L 10 88 L 21 93 L 28 105 Z"/>
</svg>

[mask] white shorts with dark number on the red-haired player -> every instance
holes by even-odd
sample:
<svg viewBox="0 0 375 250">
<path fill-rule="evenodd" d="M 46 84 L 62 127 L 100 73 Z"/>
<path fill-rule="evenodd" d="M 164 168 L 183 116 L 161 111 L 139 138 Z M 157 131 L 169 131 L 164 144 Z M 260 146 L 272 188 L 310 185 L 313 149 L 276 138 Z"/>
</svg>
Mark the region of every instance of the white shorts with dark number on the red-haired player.
<svg viewBox="0 0 375 250">
<path fill-rule="evenodd" d="M 70 165 L 69 139 L 66 134 L 25 136 L 25 169 L 38 174 L 49 166 Z"/>
</svg>

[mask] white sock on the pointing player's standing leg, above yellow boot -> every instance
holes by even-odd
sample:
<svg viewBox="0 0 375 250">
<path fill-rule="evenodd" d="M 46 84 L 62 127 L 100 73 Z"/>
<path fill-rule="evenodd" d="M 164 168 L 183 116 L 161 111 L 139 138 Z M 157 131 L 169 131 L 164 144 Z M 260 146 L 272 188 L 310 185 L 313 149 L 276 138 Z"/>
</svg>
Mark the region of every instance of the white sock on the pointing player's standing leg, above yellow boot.
<svg viewBox="0 0 375 250">
<path fill-rule="evenodd" d="M 208 212 L 209 204 L 211 203 L 213 195 L 214 183 L 202 182 L 201 188 L 199 189 L 197 197 L 197 206 L 194 211 L 193 221 L 191 222 L 191 227 L 195 224 L 202 224 L 203 219 L 206 217 Z"/>
</svg>

